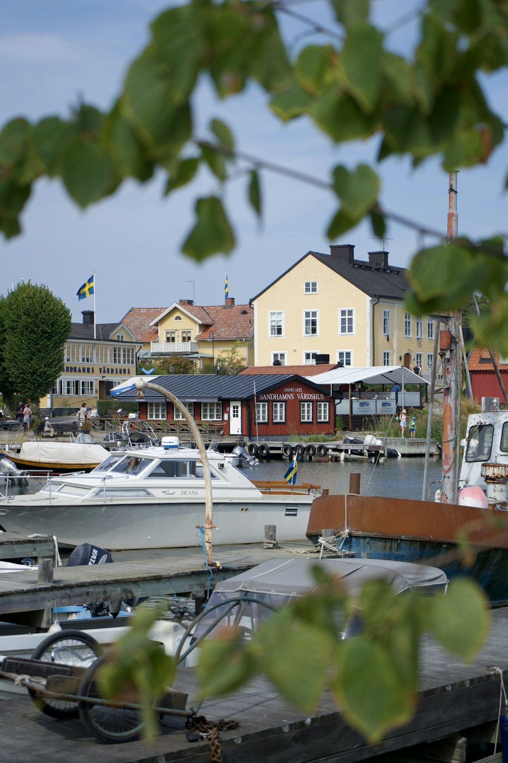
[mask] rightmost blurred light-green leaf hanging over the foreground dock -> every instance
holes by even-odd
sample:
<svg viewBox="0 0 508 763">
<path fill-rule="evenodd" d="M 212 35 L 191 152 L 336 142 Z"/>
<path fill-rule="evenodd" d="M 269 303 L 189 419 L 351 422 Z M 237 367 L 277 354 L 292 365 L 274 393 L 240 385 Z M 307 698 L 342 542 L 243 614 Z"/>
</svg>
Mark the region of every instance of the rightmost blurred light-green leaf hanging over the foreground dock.
<svg viewBox="0 0 508 763">
<path fill-rule="evenodd" d="M 478 583 L 471 578 L 454 578 L 445 596 L 433 597 L 430 615 L 436 639 L 450 652 L 472 659 L 490 624 L 487 598 Z"/>
</svg>

